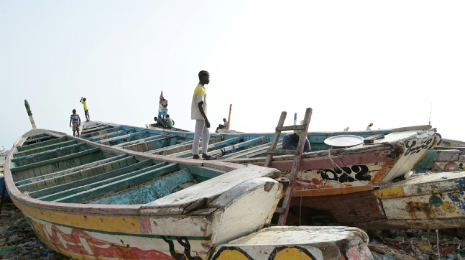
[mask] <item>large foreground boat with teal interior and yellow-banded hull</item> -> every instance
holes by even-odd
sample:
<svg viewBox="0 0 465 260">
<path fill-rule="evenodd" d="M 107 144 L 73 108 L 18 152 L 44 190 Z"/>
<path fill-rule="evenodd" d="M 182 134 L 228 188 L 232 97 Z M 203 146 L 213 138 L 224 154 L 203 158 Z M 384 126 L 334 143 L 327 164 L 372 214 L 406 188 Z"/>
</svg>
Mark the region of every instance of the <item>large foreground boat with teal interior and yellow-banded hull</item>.
<svg viewBox="0 0 465 260">
<path fill-rule="evenodd" d="M 37 236 L 80 260 L 209 259 L 270 223 L 276 169 L 187 160 L 31 130 L 10 150 L 5 182 Z"/>
</svg>

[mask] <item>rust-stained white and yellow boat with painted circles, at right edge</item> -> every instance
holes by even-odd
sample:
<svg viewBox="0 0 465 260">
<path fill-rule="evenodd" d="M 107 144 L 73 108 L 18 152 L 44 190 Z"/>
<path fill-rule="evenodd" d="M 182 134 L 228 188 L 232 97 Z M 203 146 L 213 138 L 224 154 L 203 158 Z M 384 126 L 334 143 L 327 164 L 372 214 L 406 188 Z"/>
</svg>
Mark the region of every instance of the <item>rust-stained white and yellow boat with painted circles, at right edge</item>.
<svg viewBox="0 0 465 260">
<path fill-rule="evenodd" d="M 419 174 L 373 193 L 380 200 L 386 219 L 372 220 L 366 226 L 417 229 L 465 226 L 464 171 Z"/>
</svg>

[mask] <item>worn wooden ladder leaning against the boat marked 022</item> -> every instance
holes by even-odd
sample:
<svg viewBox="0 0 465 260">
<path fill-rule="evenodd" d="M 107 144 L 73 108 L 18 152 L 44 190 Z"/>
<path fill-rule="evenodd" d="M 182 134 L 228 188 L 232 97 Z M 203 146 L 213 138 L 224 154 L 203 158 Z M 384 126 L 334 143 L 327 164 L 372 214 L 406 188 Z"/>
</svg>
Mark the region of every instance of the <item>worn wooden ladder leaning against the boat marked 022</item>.
<svg viewBox="0 0 465 260">
<path fill-rule="evenodd" d="M 292 198 L 292 192 L 294 190 L 294 185 L 296 183 L 297 172 L 299 171 L 299 167 L 301 166 L 302 160 L 302 153 L 303 147 L 305 145 L 305 140 L 307 138 L 308 132 L 308 124 L 310 123 L 310 119 L 312 117 L 312 109 L 307 108 L 305 111 L 305 117 L 303 118 L 303 123 L 299 125 L 290 125 L 290 126 L 283 126 L 284 120 L 286 119 L 287 113 L 282 111 L 281 117 L 279 118 L 278 126 L 276 127 L 276 132 L 271 141 L 270 148 L 267 151 L 267 156 L 265 160 L 265 167 L 270 167 L 271 162 L 273 160 L 273 155 L 275 154 L 294 154 L 294 163 L 292 164 L 291 176 L 289 178 L 289 189 L 287 190 L 286 196 L 282 201 L 282 206 L 276 209 L 276 213 L 279 213 L 279 220 L 278 225 L 285 225 L 287 214 L 289 213 L 289 204 Z M 281 135 L 281 131 L 291 131 L 291 130 L 301 130 L 299 135 L 299 144 L 297 145 L 297 150 L 289 150 L 289 149 L 276 149 L 276 145 L 279 140 L 279 136 Z"/>
</svg>

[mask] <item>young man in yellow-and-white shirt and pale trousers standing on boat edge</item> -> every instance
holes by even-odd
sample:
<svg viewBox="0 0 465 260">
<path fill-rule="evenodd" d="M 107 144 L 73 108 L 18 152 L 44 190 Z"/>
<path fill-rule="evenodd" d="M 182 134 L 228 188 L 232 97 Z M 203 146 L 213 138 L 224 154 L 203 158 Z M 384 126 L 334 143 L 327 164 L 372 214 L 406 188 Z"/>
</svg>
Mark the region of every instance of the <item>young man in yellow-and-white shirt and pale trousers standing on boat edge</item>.
<svg viewBox="0 0 465 260">
<path fill-rule="evenodd" d="M 192 96 L 192 105 L 190 118 L 195 120 L 194 142 L 192 144 L 192 159 L 200 159 L 199 143 L 200 137 L 202 141 L 202 159 L 210 160 L 211 156 L 207 155 L 207 148 L 210 139 L 210 122 L 207 118 L 207 91 L 205 85 L 210 82 L 210 74 L 208 71 L 202 70 L 199 72 L 199 84 L 194 90 Z"/>
</svg>

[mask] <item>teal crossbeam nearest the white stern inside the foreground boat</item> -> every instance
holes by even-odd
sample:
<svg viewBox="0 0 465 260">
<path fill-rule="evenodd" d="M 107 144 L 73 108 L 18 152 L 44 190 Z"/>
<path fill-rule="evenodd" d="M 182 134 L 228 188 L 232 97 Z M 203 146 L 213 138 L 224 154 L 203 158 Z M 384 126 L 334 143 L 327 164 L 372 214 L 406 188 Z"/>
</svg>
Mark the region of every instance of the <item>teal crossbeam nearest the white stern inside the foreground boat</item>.
<svg viewBox="0 0 465 260">
<path fill-rule="evenodd" d="M 151 171 L 147 172 L 142 172 L 138 174 L 133 175 L 133 173 L 129 173 L 123 176 L 118 176 L 114 177 L 111 179 L 107 180 L 101 180 L 97 183 L 92 183 L 89 189 L 86 189 L 85 191 L 81 191 L 78 193 L 73 193 L 72 195 L 63 197 L 60 196 L 60 198 L 55 199 L 53 201 L 55 202 L 66 202 L 66 203 L 78 203 L 83 200 L 92 200 L 95 197 L 102 196 L 104 194 L 108 194 L 110 191 L 115 191 L 115 190 L 120 190 L 120 189 L 126 189 L 129 188 L 133 185 L 138 185 L 143 182 L 151 181 L 156 178 L 163 178 L 165 174 L 172 172 L 173 169 L 179 169 L 179 165 L 177 164 L 168 164 L 166 166 L 163 166 L 158 169 L 154 169 Z M 160 177 L 162 176 L 162 177 Z M 42 197 L 40 198 L 41 200 L 44 200 L 45 198 Z"/>
</svg>

